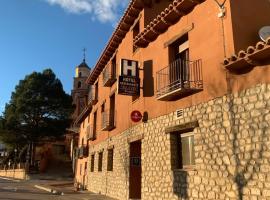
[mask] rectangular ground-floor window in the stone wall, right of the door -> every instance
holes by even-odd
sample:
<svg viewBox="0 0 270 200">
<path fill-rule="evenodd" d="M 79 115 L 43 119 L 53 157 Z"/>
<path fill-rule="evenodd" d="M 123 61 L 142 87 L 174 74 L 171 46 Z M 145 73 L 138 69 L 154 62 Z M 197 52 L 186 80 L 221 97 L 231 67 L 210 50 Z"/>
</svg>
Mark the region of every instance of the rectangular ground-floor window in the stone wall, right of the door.
<svg viewBox="0 0 270 200">
<path fill-rule="evenodd" d="M 171 134 L 172 168 L 185 169 L 195 165 L 193 132 Z"/>
</svg>

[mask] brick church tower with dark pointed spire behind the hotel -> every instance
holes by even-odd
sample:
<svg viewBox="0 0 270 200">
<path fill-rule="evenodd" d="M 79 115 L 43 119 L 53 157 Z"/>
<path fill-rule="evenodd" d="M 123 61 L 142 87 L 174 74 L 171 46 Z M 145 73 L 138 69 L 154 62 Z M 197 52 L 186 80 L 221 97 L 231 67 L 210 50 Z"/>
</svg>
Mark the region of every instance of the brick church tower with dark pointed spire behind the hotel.
<svg viewBox="0 0 270 200">
<path fill-rule="evenodd" d="M 75 77 L 73 79 L 73 90 L 71 91 L 73 104 L 76 109 L 73 114 L 73 120 L 75 120 L 84 107 L 87 105 L 87 95 L 89 92 L 89 85 L 86 84 L 86 79 L 90 74 L 91 69 L 85 62 L 85 49 L 83 62 L 75 69 Z"/>
</svg>

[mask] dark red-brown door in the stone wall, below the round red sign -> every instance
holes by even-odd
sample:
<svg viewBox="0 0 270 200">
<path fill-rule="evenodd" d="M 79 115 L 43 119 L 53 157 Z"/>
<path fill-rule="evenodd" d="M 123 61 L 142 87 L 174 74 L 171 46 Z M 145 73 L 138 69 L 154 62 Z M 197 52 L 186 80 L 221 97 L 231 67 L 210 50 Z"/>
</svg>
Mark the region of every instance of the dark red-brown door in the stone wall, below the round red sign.
<svg viewBox="0 0 270 200">
<path fill-rule="evenodd" d="M 141 140 L 130 143 L 129 198 L 141 199 Z"/>
</svg>

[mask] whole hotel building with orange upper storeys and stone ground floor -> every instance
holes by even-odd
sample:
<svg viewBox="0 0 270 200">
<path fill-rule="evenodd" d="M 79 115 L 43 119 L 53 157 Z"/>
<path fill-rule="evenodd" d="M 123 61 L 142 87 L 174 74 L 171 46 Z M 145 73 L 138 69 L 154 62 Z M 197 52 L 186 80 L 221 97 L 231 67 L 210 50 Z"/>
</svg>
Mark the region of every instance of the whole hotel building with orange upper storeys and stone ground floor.
<svg viewBox="0 0 270 200">
<path fill-rule="evenodd" d="M 258 35 L 269 11 L 130 1 L 87 79 L 77 179 L 121 200 L 270 199 L 270 39 Z M 138 64 L 135 96 L 120 94 L 133 74 L 123 59 Z"/>
</svg>

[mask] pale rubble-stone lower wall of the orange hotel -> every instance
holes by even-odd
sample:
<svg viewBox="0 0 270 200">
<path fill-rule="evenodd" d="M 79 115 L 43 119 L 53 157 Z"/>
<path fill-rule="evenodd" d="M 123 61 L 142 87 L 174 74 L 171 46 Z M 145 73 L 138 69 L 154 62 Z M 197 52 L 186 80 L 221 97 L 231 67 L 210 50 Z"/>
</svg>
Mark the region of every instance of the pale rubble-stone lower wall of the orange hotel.
<svg viewBox="0 0 270 200">
<path fill-rule="evenodd" d="M 198 122 L 195 166 L 174 169 L 173 134 L 166 129 Z M 129 142 L 142 139 L 142 199 L 270 199 L 270 85 L 216 98 L 131 127 L 90 147 L 95 172 L 88 189 L 128 199 Z M 107 172 L 107 148 L 114 145 L 114 166 Z M 103 171 L 97 172 L 103 150 Z M 91 156 L 89 156 L 91 157 Z M 90 161 L 88 162 L 90 163 Z M 89 168 L 90 169 L 90 168 Z"/>
</svg>

